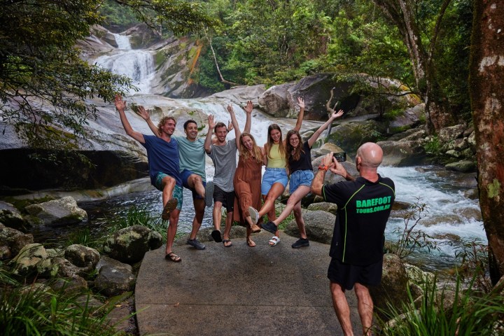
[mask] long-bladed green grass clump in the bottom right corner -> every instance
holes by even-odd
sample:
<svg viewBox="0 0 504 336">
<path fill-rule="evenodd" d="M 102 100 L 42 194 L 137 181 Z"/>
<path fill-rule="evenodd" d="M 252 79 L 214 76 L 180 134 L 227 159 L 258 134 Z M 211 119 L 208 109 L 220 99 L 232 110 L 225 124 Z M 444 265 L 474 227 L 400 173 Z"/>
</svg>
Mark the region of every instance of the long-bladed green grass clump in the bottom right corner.
<svg viewBox="0 0 504 336">
<path fill-rule="evenodd" d="M 379 335 L 500 335 L 504 327 L 502 295 L 495 291 L 480 296 L 471 289 L 462 293 L 460 285 L 458 281 L 450 299 L 435 281 L 426 283 L 419 303 L 409 294 L 410 301 L 400 309 L 389 307 L 391 321 L 379 321 Z"/>
</svg>

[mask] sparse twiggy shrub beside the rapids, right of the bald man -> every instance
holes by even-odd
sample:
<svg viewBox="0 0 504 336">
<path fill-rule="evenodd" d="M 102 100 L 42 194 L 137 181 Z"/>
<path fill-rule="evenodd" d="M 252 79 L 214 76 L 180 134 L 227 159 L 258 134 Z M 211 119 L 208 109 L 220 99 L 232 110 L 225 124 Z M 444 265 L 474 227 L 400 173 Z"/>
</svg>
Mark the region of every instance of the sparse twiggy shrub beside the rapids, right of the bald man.
<svg viewBox="0 0 504 336">
<path fill-rule="evenodd" d="M 415 229 L 416 225 L 421 221 L 423 211 L 427 211 L 427 208 L 427 204 L 421 203 L 419 198 L 404 214 L 404 228 L 397 228 L 393 231 L 399 235 L 399 239 L 389 246 L 390 253 L 394 253 L 403 259 L 417 249 L 426 248 L 428 251 L 439 249 L 432 237 L 422 230 Z"/>
</svg>

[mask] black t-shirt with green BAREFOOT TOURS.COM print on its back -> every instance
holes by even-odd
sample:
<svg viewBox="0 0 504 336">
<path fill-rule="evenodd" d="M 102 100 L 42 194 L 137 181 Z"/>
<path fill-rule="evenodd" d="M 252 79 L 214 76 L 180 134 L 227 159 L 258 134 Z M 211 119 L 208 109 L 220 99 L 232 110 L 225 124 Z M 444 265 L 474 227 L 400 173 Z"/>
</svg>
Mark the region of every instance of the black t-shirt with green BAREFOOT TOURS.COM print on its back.
<svg viewBox="0 0 504 336">
<path fill-rule="evenodd" d="M 379 176 L 379 175 L 378 175 Z M 323 186 L 324 200 L 337 204 L 329 255 L 352 265 L 370 265 L 384 253 L 385 226 L 395 200 L 391 179 L 363 177 Z"/>
</svg>

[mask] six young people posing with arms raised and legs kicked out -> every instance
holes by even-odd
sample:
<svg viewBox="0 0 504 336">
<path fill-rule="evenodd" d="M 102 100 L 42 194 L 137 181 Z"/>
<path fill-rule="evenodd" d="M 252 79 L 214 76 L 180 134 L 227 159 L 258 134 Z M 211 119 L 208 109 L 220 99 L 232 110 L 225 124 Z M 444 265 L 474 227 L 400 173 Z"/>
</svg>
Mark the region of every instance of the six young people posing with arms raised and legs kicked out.
<svg viewBox="0 0 504 336">
<path fill-rule="evenodd" d="M 186 137 L 176 137 L 173 135 L 176 127 L 173 117 L 161 118 L 156 126 L 148 111 L 143 106 L 138 106 L 139 115 L 146 120 L 154 135 L 141 134 L 134 131 L 128 122 L 125 115 L 126 103 L 122 97 L 117 96 L 115 104 L 126 133 L 146 148 L 151 183 L 162 191 L 162 219 L 169 221 L 166 247 L 168 260 L 181 261 L 179 255 L 172 251 L 172 246 L 183 204 L 182 188 L 188 188 L 193 193 L 195 217 L 187 243 L 197 249 L 205 248 L 196 236 L 202 225 L 205 206 L 211 207 L 212 204 L 215 230 L 211 236 L 217 242 L 222 241 L 226 247 L 232 246 L 230 230 L 233 221 L 246 227 L 248 246 L 255 246 L 251 233 L 259 232 L 259 225 L 274 234 L 268 243 L 270 246 L 276 246 L 280 241 L 278 224 L 292 211 L 300 231 L 300 239 L 292 247 L 309 246 L 302 218 L 301 200 L 309 194 L 314 178 L 311 146 L 332 121 L 342 116 L 342 110 L 332 113 L 329 120 L 303 143 L 299 130 L 304 117 L 304 100 L 298 97 L 297 105 L 300 111 L 293 130 L 288 131 L 286 139 L 283 139 L 279 125 L 270 125 L 267 143 L 260 147 L 250 132 L 253 109 L 251 101 L 244 106 L 244 132 L 239 128 L 232 106 L 228 106 L 231 125 L 216 123 L 214 116 L 209 115 L 209 130 L 204 140 L 197 137 L 198 125 L 195 120 L 187 120 L 184 123 Z M 235 130 L 235 139 L 226 140 L 230 129 Z M 209 155 L 215 166 L 214 180 L 209 183 L 205 176 L 205 154 Z M 266 169 L 261 179 L 263 165 Z M 286 207 L 276 218 L 275 201 L 285 191 L 289 178 L 290 197 Z M 225 230 L 221 232 L 223 207 L 227 216 Z M 262 223 L 262 216 L 265 215 L 268 221 Z"/>
</svg>

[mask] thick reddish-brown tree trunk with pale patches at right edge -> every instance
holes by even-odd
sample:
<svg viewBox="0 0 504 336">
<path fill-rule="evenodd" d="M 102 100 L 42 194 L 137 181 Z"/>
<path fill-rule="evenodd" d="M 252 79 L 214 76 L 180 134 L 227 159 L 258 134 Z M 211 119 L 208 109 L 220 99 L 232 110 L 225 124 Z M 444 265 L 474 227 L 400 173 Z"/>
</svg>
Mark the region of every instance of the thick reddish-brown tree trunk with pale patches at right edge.
<svg viewBox="0 0 504 336">
<path fill-rule="evenodd" d="M 475 1 L 470 98 L 492 283 L 504 275 L 504 4 Z"/>
</svg>

